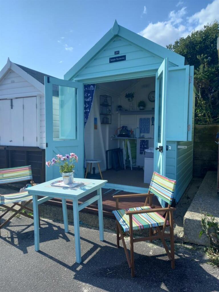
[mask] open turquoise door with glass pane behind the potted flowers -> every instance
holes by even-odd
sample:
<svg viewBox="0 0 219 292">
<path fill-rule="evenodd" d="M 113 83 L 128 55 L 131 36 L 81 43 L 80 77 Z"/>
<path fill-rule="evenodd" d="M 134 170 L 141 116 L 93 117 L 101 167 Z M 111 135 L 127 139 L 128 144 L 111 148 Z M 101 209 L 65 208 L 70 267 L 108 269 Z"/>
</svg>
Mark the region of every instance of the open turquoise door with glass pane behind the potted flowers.
<svg viewBox="0 0 219 292">
<path fill-rule="evenodd" d="M 84 177 L 83 84 L 45 77 L 46 161 L 75 153 L 75 177 Z M 60 177 L 58 166 L 46 166 L 46 180 Z"/>
</svg>

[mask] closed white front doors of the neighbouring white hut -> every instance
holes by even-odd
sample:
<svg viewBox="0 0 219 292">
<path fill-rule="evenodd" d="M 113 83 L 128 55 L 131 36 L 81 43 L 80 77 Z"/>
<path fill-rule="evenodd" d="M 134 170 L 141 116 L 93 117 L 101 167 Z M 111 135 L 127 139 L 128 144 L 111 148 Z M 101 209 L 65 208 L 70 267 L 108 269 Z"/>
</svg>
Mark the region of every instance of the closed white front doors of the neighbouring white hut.
<svg viewBox="0 0 219 292">
<path fill-rule="evenodd" d="M 37 146 L 37 97 L 0 100 L 0 145 Z"/>
</svg>

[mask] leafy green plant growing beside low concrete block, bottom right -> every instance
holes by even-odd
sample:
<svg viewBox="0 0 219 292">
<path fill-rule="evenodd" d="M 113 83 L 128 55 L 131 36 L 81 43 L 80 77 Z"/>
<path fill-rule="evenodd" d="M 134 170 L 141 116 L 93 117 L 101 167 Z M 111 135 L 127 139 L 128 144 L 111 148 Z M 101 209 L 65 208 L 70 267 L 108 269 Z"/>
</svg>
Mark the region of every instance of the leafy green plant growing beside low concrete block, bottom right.
<svg viewBox="0 0 219 292">
<path fill-rule="evenodd" d="M 219 223 L 215 222 L 215 217 L 211 214 L 203 213 L 201 219 L 202 230 L 199 233 L 199 237 L 202 234 L 206 234 L 209 240 L 209 246 L 205 248 L 208 258 L 211 260 L 211 264 L 219 267 Z"/>
</svg>

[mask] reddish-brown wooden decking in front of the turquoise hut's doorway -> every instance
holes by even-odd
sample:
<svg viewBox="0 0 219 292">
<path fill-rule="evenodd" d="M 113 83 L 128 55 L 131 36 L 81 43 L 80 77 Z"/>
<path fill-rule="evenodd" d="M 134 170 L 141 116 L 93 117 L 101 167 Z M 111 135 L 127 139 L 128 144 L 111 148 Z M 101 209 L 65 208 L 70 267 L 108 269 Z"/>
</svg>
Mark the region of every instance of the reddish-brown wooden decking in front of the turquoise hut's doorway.
<svg viewBox="0 0 219 292">
<path fill-rule="evenodd" d="M 105 217 L 109 218 L 114 218 L 114 215 L 112 214 L 112 211 L 116 209 L 116 201 L 113 199 L 113 194 L 115 193 L 115 190 L 111 190 L 110 192 L 107 192 L 107 189 L 102 189 L 102 202 L 103 202 L 103 215 Z M 107 193 L 106 193 L 107 192 Z M 93 197 L 95 192 L 87 195 L 79 203 L 83 203 L 87 201 L 89 198 Z M 131 194 L 129 192 L 123 192 L 120 191 L 117 193 L 117 195 L 122 195 L 122 194 Z M 124 208 L 131 208 L 131 207 L 140 207 L 144 205 L 146 197 L 139 197 L 139 198 L 124 198 L 119 201 L 119 208 L 124 209 Z M 61 206 L 61 200 L 60 199 L 53 199 L 50 201 L 47 201 L 45 204 L 53 204 L 53 205 L 58 205 Z M 160 203 L 157 199 L 157 197 L 153 197 L 152 199 L 152 204 L 155 207 L 160 207 Z M 67 201 L 67 208 L 72 209 L 72 201 Z M 93 204 L 89 205 L 88 207 L 84 208 L 81 212 L 87 212 L 90 214 L 98 214 L 98 205 L 97 201 L 94 202 Z"/>
</svg>

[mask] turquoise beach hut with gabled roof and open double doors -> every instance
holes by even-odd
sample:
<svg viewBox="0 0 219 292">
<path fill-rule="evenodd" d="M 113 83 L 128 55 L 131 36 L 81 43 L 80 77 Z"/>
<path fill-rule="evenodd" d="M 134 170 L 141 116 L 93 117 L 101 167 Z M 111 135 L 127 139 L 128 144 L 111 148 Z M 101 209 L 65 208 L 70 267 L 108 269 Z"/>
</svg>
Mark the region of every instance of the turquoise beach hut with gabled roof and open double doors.
<svg viewBox="0 0 219 292">
<path fill-rule="evenodd" d="M 46 160 L 75 152 L 82 178 L 85 159 L 98 159 L 106 188 L 136 193 L 157 171 L 177 180 L 178 202 L 192 179 L 193 75 L 183 56 L 115 21 L 64 80 L 45 77 Z"/>
</svg>

